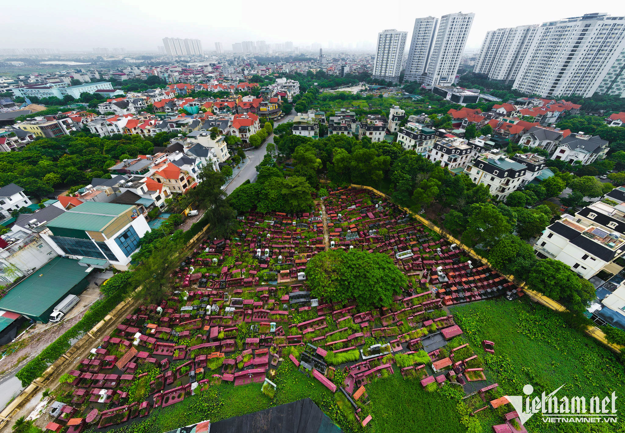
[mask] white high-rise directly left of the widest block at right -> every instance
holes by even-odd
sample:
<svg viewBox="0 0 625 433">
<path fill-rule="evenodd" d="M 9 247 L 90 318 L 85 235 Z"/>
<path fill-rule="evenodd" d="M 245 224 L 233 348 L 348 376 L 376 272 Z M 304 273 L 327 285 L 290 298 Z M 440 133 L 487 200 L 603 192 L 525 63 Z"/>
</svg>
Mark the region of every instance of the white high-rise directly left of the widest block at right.
<svg viewBox="0 0 625 433">
<path fill-rule="evenodd" d="M 487 31 L 473 72 L 484 74 L 492 81 L 512 84 L 537 31 L 537 24 Z"/>
</svg>

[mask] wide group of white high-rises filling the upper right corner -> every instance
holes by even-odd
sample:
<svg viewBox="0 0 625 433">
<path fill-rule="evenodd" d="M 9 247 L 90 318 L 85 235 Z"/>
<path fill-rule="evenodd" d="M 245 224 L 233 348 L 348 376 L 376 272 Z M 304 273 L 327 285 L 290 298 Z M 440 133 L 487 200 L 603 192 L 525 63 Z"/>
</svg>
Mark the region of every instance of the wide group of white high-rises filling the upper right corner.
<svg viewBox="0 0 625 433">
<path fill-rule="evenodd" d="M 625 17 L 608 14 L 489 31 L 474 72 L 542 97 L 625 97 Z"/>
</svg>

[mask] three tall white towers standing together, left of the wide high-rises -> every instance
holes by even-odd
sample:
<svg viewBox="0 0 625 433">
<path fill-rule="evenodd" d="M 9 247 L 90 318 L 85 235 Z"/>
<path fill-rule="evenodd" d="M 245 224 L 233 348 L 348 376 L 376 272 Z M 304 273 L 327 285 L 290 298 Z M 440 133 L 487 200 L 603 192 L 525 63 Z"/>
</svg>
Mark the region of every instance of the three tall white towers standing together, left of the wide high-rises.
<svg viewBox="0 0 625 433">
<path fill-rule="evenodd" d="M 412 41 L 404 81 L 419 81 L 429 86 L 452 84 L 460 64 L 475 14 L 447 14 L 414 20 Z M 407 32 L 385 30 L 377 36 L 376 61 L 372 76 L 397 82 Z"/>
</svg>

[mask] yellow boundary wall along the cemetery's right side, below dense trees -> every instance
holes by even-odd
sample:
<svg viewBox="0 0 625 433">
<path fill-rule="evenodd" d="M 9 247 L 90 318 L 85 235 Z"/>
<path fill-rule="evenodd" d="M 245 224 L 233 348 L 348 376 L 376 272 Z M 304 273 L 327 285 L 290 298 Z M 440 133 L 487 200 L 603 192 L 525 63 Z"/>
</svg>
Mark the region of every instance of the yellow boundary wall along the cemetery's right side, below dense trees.
<svg viewBox="0 0 625 433">
<path fill-rule="evenodd" d="M 324 184 L 328 184 L 329 183 L 329 181 L 327 181 L 327 180 L 321 180 L 320 182 L 324 183 Z M 381 196 L 381 197 L 384 197 L 384 198 L 389 199 L 389 200 L 392 201 L 391 196 L 388 196 L 387 194 L 384 194 L 384 192 L 377 191 L 377 189 L 375 189 L 375 188 L 373 188 L 371 186 L 351 184 L 350 187 L 352 187 L 352 188 L 359 188 L 359 189 L 367 189 L 367 190 L 369 190 L 371 192 L 374 192 L 374 194 L 376 194 L 377 196 Z M 416 218 L 417 220 L 419 220 L 420 222 L 422 222 L 429 229 L 437 232 L 442 237 L 445 237 L 447 239 L 447 241 L 452 242 L 452 244 L 456 244 L 457 246 L 461 247 L 464 251 L 467 252 L 467 254 L 469 254 L 469 256 L 473 257 L 476 260 L 481 261 L 482 263 L 486 264 L 489 267 L 492 267 L 492 269 L 495 269 L 494 266 L 492 266 L 492 264 L 486 259 L 486 257 L 480 256 L 479 254 L 477 254 L 476 251 L 474 251 L 474 249 L 469 248 L 466 245 L 462 244 L 462 242 L 460 242 L 459 239 L 456 239 L 455 237 L 451 236 L 451 234 L 449 234 L 449 232 L 444 231 L 440 227 L 436 226 L 436 224 L 434 224 L 431 221 L 428 221 L 427 219 L 425 219 L 421 215 L 415 214 L 414 212 L 412 212 L 407 207 L 402 207 L 402 206 L 399 206 L 398 204 L 397 204 L 397 206 L 399 207 L 399 209 L 402 209 L 402 211 L 407 212 L 407 214 L 409 214 L 410 216 L 412 216 L 412 217 Z M 527 294 L 527 296 L 529 296 L 530 299 L 532 299 L 532 301 L 537 302 L 539 304 L 542 304 L 543 306 L 545 306 L 545 307 L 547 307 L 549 309 L 552 309 L 554 311 L 558 311 L 558 312 L 567 311 L 566 307 L 564 307 L 562 304 L 559 304 L 559 302 L 556 302 L 553 299 L 551 299 L 550 297 L 544 296 L 543 294 L 541 294 L 539 292 L 536 292 L 536 291 L 534 291 L 532 289 L 529 289 L 527 287 L 527 283 L 525 281 L 517 279 L 517 278 L 515 278 L 512 275 L 504 275 L 504 277 L 506 277 L 506 279 L 508 281 L 514 282 L 514 284 L 516 284 L 519 288 L 523 289 L 523 291 Z M 588 327 L 586 329 L 586 331 L 584 331 L 584 332 L 586 332 L 586 334 L 588 336 L 591 336 L 591 337 L 597 339 L 602 344 L 604 344 L 607 347 L 609 347 L 610 349 L 612 349 L 612 351 L 621 352 L 621 350 L 624 348 L 624 346 L 618 346 L 616 344 L 611 344 L 611 343 L 607 342 L 606 334 L 604 334 L 604 332 L 601 331 L 601 329 L 599 329 L 596 326 Z"/>
</svg>

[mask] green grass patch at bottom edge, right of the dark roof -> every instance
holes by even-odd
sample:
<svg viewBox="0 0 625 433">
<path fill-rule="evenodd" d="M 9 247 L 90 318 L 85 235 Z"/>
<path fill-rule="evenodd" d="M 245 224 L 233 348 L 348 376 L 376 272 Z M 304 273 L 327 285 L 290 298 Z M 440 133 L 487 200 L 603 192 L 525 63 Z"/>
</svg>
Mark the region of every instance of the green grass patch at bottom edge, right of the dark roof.
<svg viewBox="0 0 625 433">
<path fill-rule="evenodd" d="M 439 392 L 426 392 L 421 382 L 395 374 L 366 385 L 371 402 L 371 427 L 376 433 L 466 432 L 456 401 Z"/>
</svg>

